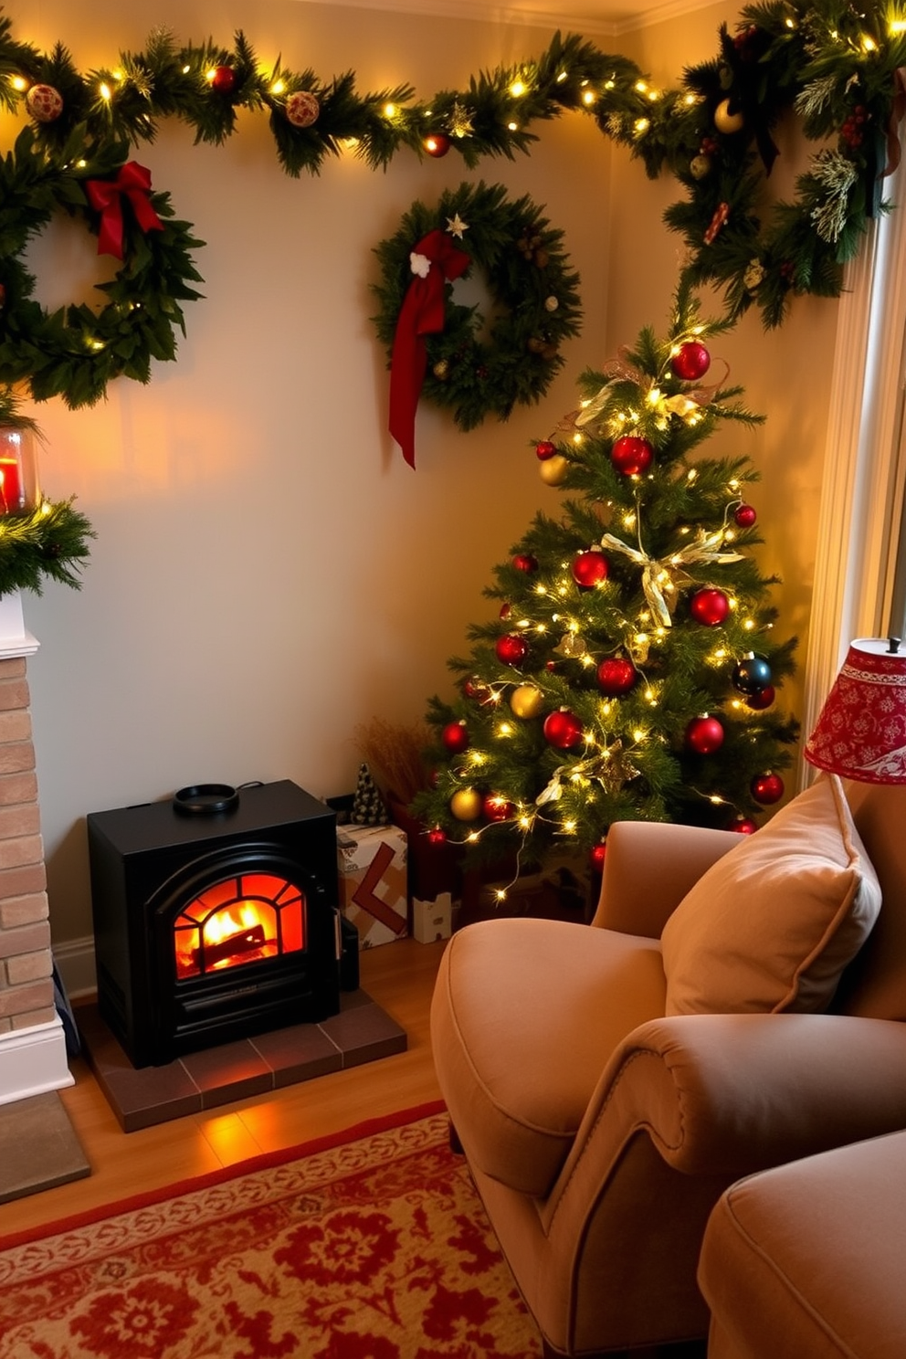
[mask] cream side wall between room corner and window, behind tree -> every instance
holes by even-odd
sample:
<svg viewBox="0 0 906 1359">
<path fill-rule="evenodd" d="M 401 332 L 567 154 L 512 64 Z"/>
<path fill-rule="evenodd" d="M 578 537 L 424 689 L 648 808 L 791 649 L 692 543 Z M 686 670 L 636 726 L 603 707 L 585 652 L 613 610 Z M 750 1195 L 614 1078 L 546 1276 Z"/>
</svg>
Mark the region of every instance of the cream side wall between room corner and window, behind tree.
<svg viewBox="0 0 906 1359">
<path fill-rule="evenodd" d="M 626 34 L 619 50 L 649 73 L 653 84 L 675 86 L 683 68 L 717 56 L 720 24 L 728 23 L 732 33 L 736 15 L 735 5 L 709 5 Z M 767 201 L 792 197 L 795 177 L 815 149 L 786 126 L 778 129 L 777 143 L 781 155 L 772 171 Z M 681 196 L 675 181 L 647 179 L 641 162 L 623 148 L 614 149 L 607 315 L 611 351 L 633 340 L 642 323 L 663 333 L 685 242 L 663 226 L 662 215 Z M 719 303 L 705 292 L 702 313 L 719 314 Z M 773 593 L 781 612 L 778 635 L 799 637 L 799 674 L 782 693 L 784 704 L 795 713 L 801 712 L 837 314 L 833 299 L 799 298 L 782 328 L 765 332 L 751 310 L 710 345 L 714 356 L 729 363 L 729 381 L 746 387 L 748 406 L 767 417 L 753 432 L 728 427 L 702 447 L 702 454 L 747 454 L 761 472 L 761 484 L 751 495 L 765 538 L 758 560 L 766 575 L 782 580 Z"/>
</svg>

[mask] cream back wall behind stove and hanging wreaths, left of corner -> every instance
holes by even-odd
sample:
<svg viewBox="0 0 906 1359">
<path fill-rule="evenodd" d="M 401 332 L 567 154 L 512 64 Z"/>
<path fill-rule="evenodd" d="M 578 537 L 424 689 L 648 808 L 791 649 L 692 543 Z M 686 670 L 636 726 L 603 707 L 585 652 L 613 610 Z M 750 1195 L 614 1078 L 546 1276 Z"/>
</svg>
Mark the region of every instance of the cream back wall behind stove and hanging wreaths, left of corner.
<svg viewBox="0 0 906 1359">
<path fill-rule="evenodd" d="M 81 69 L 141 49 L 158 24 L 227 45 L 242 27 L 265 65 L 281 54 L 322 77 L 352 68 L 363 91 L 412 82 L 421 98 L 551 37 L 292 0 L 4 8 L 16 37 L 61 41 Z M 531 442 L 604 349 L 610 147 L 580 114 L 539 130 L 530 158 L 473 173 L 454 154 L 402 154 L 386 174 L 344 158 L 293 181 L 253 116 L 221 148 L 167 124 L 136 152 L 208 242 L 205 300 L 187 306 L 179 360 L 156 364 L 149 386 L 120 379 L 95 409 L 35 412 L 45 489 L 75 493 L 98 530 L 80 594 L 26 597 L 57 943 L 91 931 L 87 813 L 208 780 L 352 788 L 356 726 L 421 716 L 467 622 L 488 616 L 492 565 L 554 507 Z M 463 435 L 422 409 L 413 473 L 384 432 L 371 251 L 416 197 L 481 177 L 547 205 L 583 277 L 585 326 L 542 405 L 507 425 Z M 72 300 L 73 275 L 94 283 L 92 246 L 87 232 L 45 232 L 31 254 L 45 304 Z"/>
</svg>

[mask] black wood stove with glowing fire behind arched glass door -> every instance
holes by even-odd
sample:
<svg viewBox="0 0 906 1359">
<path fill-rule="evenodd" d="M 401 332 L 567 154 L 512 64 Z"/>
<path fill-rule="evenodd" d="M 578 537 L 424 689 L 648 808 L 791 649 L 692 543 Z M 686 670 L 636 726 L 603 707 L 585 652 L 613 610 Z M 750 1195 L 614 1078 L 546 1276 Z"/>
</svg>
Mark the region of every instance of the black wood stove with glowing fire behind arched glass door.
<svg viewBox="0 0 906 1359">
<path fill-rule="evenodd" d="M 136 1067 L 338 1012 L 330 807 L 202 784 L 87 825 L 98 1008 Z"/>
</svg>

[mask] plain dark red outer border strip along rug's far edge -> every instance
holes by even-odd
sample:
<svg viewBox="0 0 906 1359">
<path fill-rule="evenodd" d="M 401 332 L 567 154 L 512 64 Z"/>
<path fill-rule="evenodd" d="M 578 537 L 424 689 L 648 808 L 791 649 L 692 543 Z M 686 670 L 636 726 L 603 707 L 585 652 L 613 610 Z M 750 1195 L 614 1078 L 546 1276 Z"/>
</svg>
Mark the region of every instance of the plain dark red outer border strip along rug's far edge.
<svg viewBox="0 0 906 1359">
<path fill-rule="evenodd" d="M 363 1123 L 356 1123 L 341 1132 L 327 1132 L 321 1137 L 312 1137 L 311 1142 L 302 1142 L 295 1147 L 262 1151 L 257 1157 L 249 1157 L 247 1161 L 236 1161 L 232 1166 L 208 1170 L 204 1176 L 193 1176 L 173 1185 L 148 1189 L 145 1193 L 120 1199 L 117 1203 L 86 1208 L 84 1212 L 73 1214 L 69 1218 L 60 1218 L 58 1222 L 46 1222 L 42 1226 L 26 1227 L 23 1231 L 0 1235 L 0 1250 L 24 1246 L 30 1241 L 41 1241 L 45 1237 L 57 1237 L 64 1231 L 73 1231 L 76 1227 L 87 1227 L 94 1222 L 103 1222 L 105 1218 L 115 1218 L 121 1212 L 132 1212 L 136 1208 L 145 1208 L 153 1203 L 163 1203 L 166 1199 L 178 1199 L 181 1195 L 193 1193 L 196 1189 L 206 1189 L 209 1185 L 223 1184 L 225 1180 L 238 1180 L 239 1176 L 251 1174 L 255 1170 L 266 1170 L 269 1166 L 283 1166 L 288 1161 L 314 1157 L 319 1151 L 330 1151 L 333 1147 L 359 1142 L 360 1137 L 371 1137 L 376 1132 L 387 1132 L 390 1128 L 403 1128 L 407 1123 L 418 1123 L 420 1118 L 429 1118 L 432 1114 L 443 1113 L 446 1108 L 447 1105 L 443 1099 L 432 1099 L 429 1104 L 416 1105 L 413 1109 L 399 1109 L 397 1113 L 365 1118 Z"/>
</svg>

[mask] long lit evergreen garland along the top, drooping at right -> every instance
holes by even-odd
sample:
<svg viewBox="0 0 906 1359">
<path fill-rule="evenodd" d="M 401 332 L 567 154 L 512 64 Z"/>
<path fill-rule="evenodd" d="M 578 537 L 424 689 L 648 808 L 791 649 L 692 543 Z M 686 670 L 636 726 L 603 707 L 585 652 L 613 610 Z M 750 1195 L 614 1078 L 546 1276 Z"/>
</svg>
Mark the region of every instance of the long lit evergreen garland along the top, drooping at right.
<svg viewBox="0 0 906 1359">
<path fill-rule="evenodd" d="M 37 149 L 48 154 L 60 154 L 76 128 L 92 147 L 151 141 L 164 117 L 187 122 L 197 141 L 223 143 L 249 109 L 269 118 L 291 175 L 319 171 L 346 147 L 372 167 L 401 149 L 454 149 L 471 167 L 528 151 L 535 122 L 585 111 L 649 177 L 667 171 L 686 190 L 666 213 L 689 247 L 686 280 L 723 285 L 731 318 L 757 306 L 765 326 L 782 321 L 792 296 L 838 295 L 841 266 L 886 208 L 880 185 L 899 156 L 903 67 L 906 7 L 879 0 L 746 5 L 735 33 L 721 30 L 717 56 L 672 90 L 655 88 L 626 57 L 557 34 L 535 60 L 427 102 L 410 86 L 361 95 L 352 72 L 325 79 L 281 60 L 265 69 L 242 33 L 231 48 L 179 46 L 159 30 L 144 52 L 80 73 L 62 45 L 42 53 L 18 42 L 0 16 L 0 105 L 16 110 L 24 101 Z M 791 111 L 822 148 L 793 200 L 770 205 L 772 133 Z"/>
</svg>

